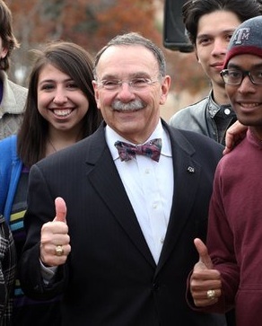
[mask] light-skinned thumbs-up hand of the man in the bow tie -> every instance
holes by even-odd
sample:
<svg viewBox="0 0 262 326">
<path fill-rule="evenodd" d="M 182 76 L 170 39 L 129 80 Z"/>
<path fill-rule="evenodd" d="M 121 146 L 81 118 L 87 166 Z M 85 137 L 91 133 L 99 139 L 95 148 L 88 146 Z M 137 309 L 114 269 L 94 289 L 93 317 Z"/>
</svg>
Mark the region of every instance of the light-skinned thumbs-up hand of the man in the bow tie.
<svg viewBox="0 0 262 326">
<path fill-rule="evenodd" d="M 55 207 L 56 216 L 52 222 L 42 225 L 40 239 L 40 260 L 50 267 L 65 264 L 71 251 L 65 200 L 57 197 Z"/>
</svg>

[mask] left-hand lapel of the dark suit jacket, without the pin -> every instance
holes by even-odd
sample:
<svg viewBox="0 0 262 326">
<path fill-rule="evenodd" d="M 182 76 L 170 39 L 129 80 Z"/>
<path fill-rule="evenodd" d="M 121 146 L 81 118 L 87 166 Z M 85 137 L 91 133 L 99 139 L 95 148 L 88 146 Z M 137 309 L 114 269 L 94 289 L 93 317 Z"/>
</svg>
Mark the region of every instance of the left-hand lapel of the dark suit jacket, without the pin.
<svg viewBox="0 0 262 326">
<path fill-rule="evenodd" d="M 94 164 L 92 172 L 88 173 L 88 179 L 135 247 L 144 255 L 144 259 L 155 268 L 153 256 L 145 242 L 144 234 L 127 197 L 126 189 L 120 180 L 104 136 L 97 137 L 93 144 L 94 147 L 90 148 L 87 155 L 87 164 Z"/>
</svg>

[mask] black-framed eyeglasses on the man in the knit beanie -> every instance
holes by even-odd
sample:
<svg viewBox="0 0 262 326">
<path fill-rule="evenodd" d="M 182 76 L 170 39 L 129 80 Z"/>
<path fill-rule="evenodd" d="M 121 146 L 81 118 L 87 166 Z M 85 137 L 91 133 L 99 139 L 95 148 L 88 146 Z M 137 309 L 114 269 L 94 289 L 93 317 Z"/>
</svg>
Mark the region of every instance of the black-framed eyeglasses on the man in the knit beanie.
<svg viewBox="0 0 262 326">
<path fill-rule="evenodd" d="M 253 84 L 262 84 L 262 69 L 243 71 L 237 69 L 223 69 L 220 72 L 225 84 L 240 85 L 242 80 L 248 75 Z"/>
</svg>

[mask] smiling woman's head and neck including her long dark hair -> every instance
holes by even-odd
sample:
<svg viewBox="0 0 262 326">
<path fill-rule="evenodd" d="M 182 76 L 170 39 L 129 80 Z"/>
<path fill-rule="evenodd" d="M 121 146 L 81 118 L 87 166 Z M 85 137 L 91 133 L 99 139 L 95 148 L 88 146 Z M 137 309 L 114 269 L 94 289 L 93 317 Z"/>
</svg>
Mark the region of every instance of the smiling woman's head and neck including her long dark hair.
<svg viewBox="0 0 262 326">
<path fill-rule="evenodd" d="M 60 41 L 32 52 L 36 61 L 17 143 L 27 166 L 53 151 L 50 140 L 62 149 L 91 135 L 101 121 L 89 53 L 74 43 Z"/>
</svg>

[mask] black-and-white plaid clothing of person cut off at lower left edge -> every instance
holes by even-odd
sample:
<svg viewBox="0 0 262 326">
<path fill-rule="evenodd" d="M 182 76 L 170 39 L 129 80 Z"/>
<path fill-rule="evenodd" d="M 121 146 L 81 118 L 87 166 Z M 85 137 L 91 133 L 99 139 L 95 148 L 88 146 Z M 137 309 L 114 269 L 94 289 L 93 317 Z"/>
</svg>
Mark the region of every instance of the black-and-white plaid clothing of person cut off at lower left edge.
<svg viewBox="0 0 262 326">
<path fill-rule="evenodd" d="M 16 255 L 13 235 L 0 215 L 0 325 L 11 325 Z"/>
</svg>

